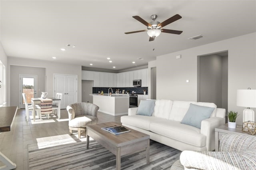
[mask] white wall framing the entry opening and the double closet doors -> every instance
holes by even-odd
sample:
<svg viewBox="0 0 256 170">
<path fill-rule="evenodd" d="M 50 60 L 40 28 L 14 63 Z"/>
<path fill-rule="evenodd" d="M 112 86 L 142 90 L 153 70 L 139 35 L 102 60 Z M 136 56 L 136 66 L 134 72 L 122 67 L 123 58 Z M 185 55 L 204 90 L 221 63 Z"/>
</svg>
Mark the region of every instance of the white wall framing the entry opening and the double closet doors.
<svg viewBox="0 0 256 170">
<path fill-rule="evenodd" d="M 8 57 L 8 77 L 10 77 L 10 65 L 21 65 L 21 66 L 31 66 L 31 67 L 43 67 L 45 68 L 45 90 L 48 93 L 48 97 L 54 97 L 54 75 L 53 74 L 69 74 L 78 75 L 78 102 L 82 101 L 82 71 L 81 65 L 63 64 L 57 63 L 57 61 L 42 61 L 36 59 L 24 59 L 18 57 Z M 8 84 L 10 87 L 10 82 Z M 12 89 L 10 89 L 12 90 Z M 8 91 L 8 101 L 10 103 L 10 90 Z"/>
</svg>

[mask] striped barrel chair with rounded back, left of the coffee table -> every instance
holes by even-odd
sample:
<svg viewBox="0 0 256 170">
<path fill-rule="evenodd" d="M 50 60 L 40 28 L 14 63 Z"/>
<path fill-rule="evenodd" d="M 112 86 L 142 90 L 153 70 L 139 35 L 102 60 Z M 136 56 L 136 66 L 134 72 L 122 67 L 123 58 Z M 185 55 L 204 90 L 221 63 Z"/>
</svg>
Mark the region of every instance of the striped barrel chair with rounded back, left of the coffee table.
<svg viewBox="0 0 256 170">
<path fill-rule="evenodd" d="M 86 130 L 87 125 L 98 123 L 97 112 L 99 107 L 92 103 L 73 103 L 67 106 L 68 126 L 70 133 L 72 130 L 78 131 L 78 138 L 81 137 L 81 130 Z"/>
</svg>

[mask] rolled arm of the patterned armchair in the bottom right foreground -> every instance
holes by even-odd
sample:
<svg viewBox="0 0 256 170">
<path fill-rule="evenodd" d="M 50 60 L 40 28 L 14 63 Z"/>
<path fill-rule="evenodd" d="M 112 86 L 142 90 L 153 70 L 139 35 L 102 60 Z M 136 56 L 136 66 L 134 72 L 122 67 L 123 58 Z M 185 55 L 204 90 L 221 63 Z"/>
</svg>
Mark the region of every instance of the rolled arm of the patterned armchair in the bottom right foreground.
<svg viewBox="0 0 256 170">
<path fill-rule="evenodd" d="M 246 169 L 244 155 L 239 152 L 211 152 L 184 150 L 180 154 L 180 163 L 185 169 Z"/>
</svg>

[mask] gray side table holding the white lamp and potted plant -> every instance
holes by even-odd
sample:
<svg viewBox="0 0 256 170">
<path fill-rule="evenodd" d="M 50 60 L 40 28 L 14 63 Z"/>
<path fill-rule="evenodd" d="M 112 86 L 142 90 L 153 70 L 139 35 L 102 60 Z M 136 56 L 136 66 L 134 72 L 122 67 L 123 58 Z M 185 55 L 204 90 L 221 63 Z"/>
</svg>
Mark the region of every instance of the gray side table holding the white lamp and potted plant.
<svg viewBox="0 0 256 170">
<path fill-rule="evenodd" d="M 228 128 L 228 124 L 221 125 L 215 128 L 215 151 L 219 151 L 220 138 L 224 134 L 249 134 L 242 131 L 242 125 L 237 125 L 236 128 Z"/>
</svg>

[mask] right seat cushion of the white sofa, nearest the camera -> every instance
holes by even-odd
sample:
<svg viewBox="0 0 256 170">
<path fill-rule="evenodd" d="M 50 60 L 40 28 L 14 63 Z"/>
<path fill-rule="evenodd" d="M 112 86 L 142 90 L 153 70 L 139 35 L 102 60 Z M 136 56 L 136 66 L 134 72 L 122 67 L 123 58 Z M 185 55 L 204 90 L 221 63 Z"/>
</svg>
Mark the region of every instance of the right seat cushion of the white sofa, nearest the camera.
<svg viewBox="0 0 256 170">
<path fill-rule="evenodd" d="M 193 146 L 206 146 L 206 136 L 200 129 L 167 119 L 156 120 L 150 124 L 150 131 Z"/>
</svg>

